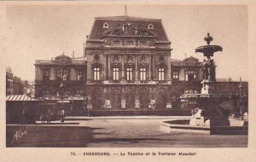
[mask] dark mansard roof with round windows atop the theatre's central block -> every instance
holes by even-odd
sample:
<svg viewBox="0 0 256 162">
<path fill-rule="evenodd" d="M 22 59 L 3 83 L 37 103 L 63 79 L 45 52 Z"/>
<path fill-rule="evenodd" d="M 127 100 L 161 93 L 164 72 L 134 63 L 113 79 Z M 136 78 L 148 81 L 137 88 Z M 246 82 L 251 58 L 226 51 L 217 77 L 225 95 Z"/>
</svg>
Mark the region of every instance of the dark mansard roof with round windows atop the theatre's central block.
<svg viewBox="0 0 256 162">
<path fill-rule="evenodd" d="M 103 25 L 106 23 L 108 24 L 108 26 L 103 27 Z M 169 42 L 161 20 L 132 16 L 96 17 L 94 25 L 92 26 L 92 30 L 90 32 L 89 39 L 102 39 L 102 33 L 120 29 L 122 26 L 129 25 L 132 26 L 132 29 L 138 30 L 136 34 L 141 33 L 141 31 L 143 31 L 142 35 L 137 34 L 138 37 L 152 36 L 156 38 L 156 41 Z M 152 27 L 148 28 L 148 25 L 151 25 Z M 147 35 L 147 33 L 144 34 L 145 32 L 148 32 L 149 35 Z M 112 34 L 115 33 L 116 32 L 112 32 Z"/>
</svg>

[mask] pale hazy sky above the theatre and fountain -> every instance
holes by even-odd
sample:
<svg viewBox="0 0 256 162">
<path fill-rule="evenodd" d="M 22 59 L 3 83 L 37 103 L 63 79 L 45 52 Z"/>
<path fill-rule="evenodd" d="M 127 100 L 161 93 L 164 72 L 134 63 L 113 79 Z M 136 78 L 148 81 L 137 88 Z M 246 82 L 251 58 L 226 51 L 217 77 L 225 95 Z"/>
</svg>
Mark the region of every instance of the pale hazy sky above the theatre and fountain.
<svg viewBox="0 0 256 162">
<path fill-rule="evenodd" d="M 247 80 L 247 7 L 243 5 L 142 5 L 127 4 L 131 16 L 161 19 L 172 42 L 172 59 L 201 53 L 195 48 L 211 44 L 223 47 L 213 59 L 217 78 Z M 125 14 L 125 4 L 9 4 L 6 8 L 4 57 L 15 76 L 35 78 L 36 60 L 50 60 L 63 52 L 83 56 L 83 43 L 95 17 Z"/>
</svg>

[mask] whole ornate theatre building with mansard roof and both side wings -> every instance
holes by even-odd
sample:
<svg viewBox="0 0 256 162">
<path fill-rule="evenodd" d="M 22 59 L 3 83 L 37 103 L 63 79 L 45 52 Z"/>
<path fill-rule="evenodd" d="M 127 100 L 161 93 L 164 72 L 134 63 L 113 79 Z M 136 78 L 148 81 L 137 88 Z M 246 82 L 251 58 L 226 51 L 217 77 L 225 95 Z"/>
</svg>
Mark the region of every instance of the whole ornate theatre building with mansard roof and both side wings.
<svg viewBox="0 0 256 162">
<path fill-rule="evenodd" d="M 201 92 L 202 62 L 192 56 L 173 60 L 171 55 L 161 20 L 96 17 L 82 57 L 36 61 L 36 97 L 85 100 L 69 104 L 70 110 L 77 109 L 70 115 L 189 115 L 189 105 L 179 97 Z M 239 82 L 217 86 L 221 93 L 239 92 Z"/>
</svg>

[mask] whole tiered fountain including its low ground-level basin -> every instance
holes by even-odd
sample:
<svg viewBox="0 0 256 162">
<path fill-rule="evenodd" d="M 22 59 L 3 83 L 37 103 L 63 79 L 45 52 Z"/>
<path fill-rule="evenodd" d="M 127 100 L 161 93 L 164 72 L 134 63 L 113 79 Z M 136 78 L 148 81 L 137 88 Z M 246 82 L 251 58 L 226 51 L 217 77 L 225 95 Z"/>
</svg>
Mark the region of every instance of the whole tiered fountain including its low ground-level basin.
<svg viewBox="0 0 256 162">
<path fill-rule="evenodd" d="M 230 126 L 229 114 L 219 106 L 222 101 L 229 100 L 236 94 L 218 94 L 216 91 L 215 63 L 213 54 L 222 51 L 222 47 L 211 45 L 212 37 L 207 33 L 204 38 L 207 45 L 195 49 L 196 53 L 205 56 L 202 66 L 203 80 L 201 94 L 183 94 L 181 100 L 196 101 L 197 107 L 192 110 L 189 119 L 166 121 L 160 125 L 160 130 L 201 130 L 209 134 L 247 134 L 247 127 L 243 121 L 236 126 Z"/>
</svg>

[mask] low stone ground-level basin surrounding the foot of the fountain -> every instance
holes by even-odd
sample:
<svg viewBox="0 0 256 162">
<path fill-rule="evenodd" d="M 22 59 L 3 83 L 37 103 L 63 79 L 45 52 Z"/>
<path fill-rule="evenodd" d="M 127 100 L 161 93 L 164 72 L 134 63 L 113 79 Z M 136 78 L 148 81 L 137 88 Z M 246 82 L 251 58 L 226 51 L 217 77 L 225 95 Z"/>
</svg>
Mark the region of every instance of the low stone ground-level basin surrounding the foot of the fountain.
<svg viewBox="0 0 256 162">
<path fill-rule="evenodd" d="M 247 135 L 248 122 L 246 120 L 230 119 L 230 126 L 198 126 L 189 125 L 189 119 L 164 121 L 160 124 L 160 131 L 166 133 L 183 132 L 208 135 Z"/>
</svg>

